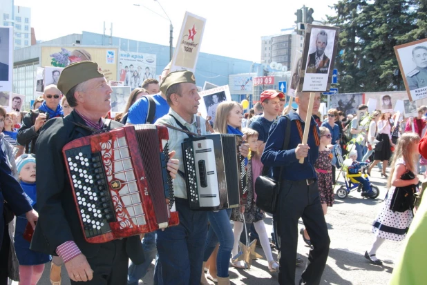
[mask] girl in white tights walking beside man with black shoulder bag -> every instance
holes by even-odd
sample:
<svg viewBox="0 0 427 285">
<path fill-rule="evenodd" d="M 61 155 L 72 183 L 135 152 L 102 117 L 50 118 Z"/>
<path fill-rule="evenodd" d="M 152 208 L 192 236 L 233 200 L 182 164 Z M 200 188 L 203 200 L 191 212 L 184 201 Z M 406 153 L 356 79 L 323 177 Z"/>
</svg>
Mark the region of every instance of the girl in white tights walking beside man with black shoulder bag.
<svg viewBox="0 0 427 285">
<path fill-rule="evenodd" d="M 258 154 L 258 132 L 252 130 L 252 128 L 244 128 L 243 133 L 247 137 L 249 149 L 251 154 L 247 157 L 247 204 L 245 205 L 245 222 L 254 223 L 256 233 L 258 233 L 260 244 L 263 246 L 265 257 L 268 261 L 269 271 L 278 271 L 278 263 L 274 261 L 272 255 L 272 248 L 270 247 L 267 231 L 265 230 L 264 218 L 265 213 L 256 206 L 256 192 L 255 192 L 255 181 L 256 178 L 261 174 L 263 170 L 263 164 L 261 163 L 261 156 Z M 243 231 L 243 217 L 240 214 L 239 208 L 234 208 L 231 213 L 231 220 L 234 221 L 234 246 L 232 250 L 232 256 L 235 257 L 238 253 L 238 241 Z M 236 268 L 246 268 L 244 262 L 232 262 L 232 266 Z"/>
</svg>

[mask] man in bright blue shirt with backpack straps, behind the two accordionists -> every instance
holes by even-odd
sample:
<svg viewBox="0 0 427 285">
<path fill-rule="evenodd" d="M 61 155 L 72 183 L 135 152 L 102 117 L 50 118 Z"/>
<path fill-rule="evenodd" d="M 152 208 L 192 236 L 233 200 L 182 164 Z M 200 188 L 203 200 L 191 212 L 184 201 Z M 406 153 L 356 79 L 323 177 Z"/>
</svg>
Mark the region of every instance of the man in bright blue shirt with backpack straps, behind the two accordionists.
<svg viewBox="0 0 427 285">
<path fill-rule="evenodd" d="M 167 77 L 169 75 L 169 68 L 170 65 L 168 64 L 160 76 L 160 81 L 164 79 L 164 77 Z M 155 79 L 146 79 L 147 83 L 146 87 L 149 87 L 151 85 L 150 90 L 153 89 L 155 86 Z M 145 85 L 143 83 L 143 85 Z M 157 83 L 158 88 L 158 83 Z M 148 90 L 146 88 L 146 90 Z M 154 123 L 157 119 L 163 117 L 164 115 L 167 115 L 169 112 L 169 105 L 166 101 L 166 95 L 164 95 L 162 92 L 159 94 L 153 95 L 153 99 L 155 101 L 155 113 L 154 113 Z M 134 124 L 146 124 L 146 118 L 147 118 L 147 111 L 149 107 L 149 101 L 146 99 L 146 97 L 141 97 L 138 99 L 138 101 L 135 102 L 129 108 L 129 117 L 126 121 L 126 125 L 134 125 Z M 148 270 L 151 262 L 153 262 L 153 259 L 155 258 L 155 255 L 157 254 L 157 248 L 155 248 L 155 232 L 153 233 L 146 233 L 144 235 L 144 239 L 142 239 L 142 248 L 144 248 L 144 254 L 145 254 L 145 261 L 142 264 L 136 265 L 131 262 L 131 265 L 129 266 L 128 271 L 128 285 L 137 285 L 139 280 L 144 278 L 146 275 L 146 271 Z M 157 266 L 157 262 L 156 262 Z"/>
</svg>

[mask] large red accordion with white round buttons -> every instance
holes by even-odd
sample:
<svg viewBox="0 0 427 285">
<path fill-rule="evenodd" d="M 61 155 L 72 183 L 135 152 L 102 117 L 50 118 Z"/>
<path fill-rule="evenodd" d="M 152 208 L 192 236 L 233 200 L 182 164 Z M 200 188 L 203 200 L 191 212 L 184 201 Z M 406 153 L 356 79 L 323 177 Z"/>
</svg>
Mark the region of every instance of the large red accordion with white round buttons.
<svg viewBox="0 0 427 285">
<path fill-rule="evenodd" d="M 124 126 L 62 149 L 84 237 L 90 243 L 179 224 L 164 126 Z"/>
</svg>

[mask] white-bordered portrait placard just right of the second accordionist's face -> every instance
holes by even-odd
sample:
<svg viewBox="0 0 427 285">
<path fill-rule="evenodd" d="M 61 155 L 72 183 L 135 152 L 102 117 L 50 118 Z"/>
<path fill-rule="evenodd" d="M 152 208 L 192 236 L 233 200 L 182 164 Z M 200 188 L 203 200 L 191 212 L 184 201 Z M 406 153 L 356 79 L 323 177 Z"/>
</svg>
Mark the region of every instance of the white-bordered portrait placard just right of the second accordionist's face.
<svg viewBox="0 0 427 285">
<path fill-rule="evenodd" d="M 228 85 L 219 86 L 209 90 L 199 92 L 200 100 L 199 112 L 202 117 L 209 117 L 210 121 L 215 121 L 216 108 L 223 101 L 231 101 L 231 93 Z"/>
</svg>

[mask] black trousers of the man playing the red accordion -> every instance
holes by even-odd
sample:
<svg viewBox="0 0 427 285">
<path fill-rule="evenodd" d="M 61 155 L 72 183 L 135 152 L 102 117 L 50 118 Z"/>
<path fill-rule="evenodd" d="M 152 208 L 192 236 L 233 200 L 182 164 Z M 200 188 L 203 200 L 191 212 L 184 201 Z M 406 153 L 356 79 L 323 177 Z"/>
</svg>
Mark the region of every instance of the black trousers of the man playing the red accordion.
<svg viewBox="0 0 427 285">
<path fill-rule="evenodd" d="M 88 282 L 71 281 L 72 285 L 119 285 L 127 283 L 129 257 L 126 242 L 116 239 L 102 244 L 98 254 L 88 258 L 93 279 Z"/>
</svg>

